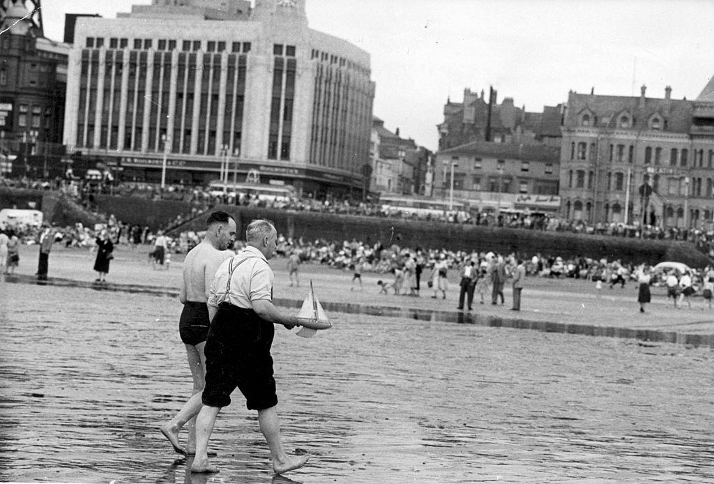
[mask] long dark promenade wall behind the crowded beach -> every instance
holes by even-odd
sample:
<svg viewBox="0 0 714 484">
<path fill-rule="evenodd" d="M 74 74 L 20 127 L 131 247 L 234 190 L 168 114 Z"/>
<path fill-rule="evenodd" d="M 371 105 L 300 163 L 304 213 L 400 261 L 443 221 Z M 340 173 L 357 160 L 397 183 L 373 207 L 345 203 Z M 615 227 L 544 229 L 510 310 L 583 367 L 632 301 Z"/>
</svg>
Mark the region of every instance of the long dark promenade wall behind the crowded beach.
<svg viewBox="0 0 714 484">
<path fill-rule="evenodd" d="M 49 191 L 0 189 L 0 208 L 30 208 L 34 203 L 42 210 L 46 220 L 58 225 L 75 221 L 94 223 L 92 214 L 81 211 L 72 203 L 64 201 Z M 100 213 L 114 213 L 118 220 L 156 229 L 174 220 L 179 214 L 186 215 L 191 207 L 181 201 L 152 201 L 144 198 L 119 196 L 96 196 L 95 203 Z M 238 232 L 243 233 L 253 218 L 269 218 L 276 223 L 278 232 L 305 240 L 324 238 L 328 241 L 344 241 L 356 238 L 383 246 L 397 244 L 401 247 L 445 248 L 459 250 L 475 248 L 478 251 L 498 251 L 532 256 L 558 255 L 563 257 L 587 256 L 592 258 L 621 259 L 635 263 L 680 261 L 693 267 L 711 263 L 691 243 L 656 241 L 609 236 L 592 236 L 568 232 L 531 231 L 516 228 L 496 228 L 433 221 L 412 221 L 398 218 L 364 217 L 301 211 L 283 211 L 268 208 L 218 206 L 215 209 L 231 213 L 238 222 Z M 205 228 L 205 216 L 175 228 L 179 231 L 201 231 Z"/>
</svg>

